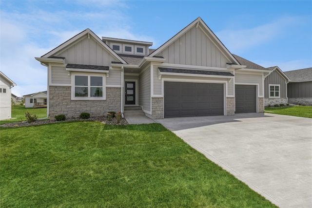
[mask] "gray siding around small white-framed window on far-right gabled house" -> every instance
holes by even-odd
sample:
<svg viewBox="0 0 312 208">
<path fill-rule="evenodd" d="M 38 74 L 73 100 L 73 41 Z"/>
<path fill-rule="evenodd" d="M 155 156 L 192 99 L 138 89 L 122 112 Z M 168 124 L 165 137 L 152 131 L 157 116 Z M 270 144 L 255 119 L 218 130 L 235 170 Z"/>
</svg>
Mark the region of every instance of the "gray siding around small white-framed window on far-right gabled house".
<svg viewBox="0 0 312 208">
<path fill-rule="evenodd" d="M 280 85 L 280 97 L 286 98 L 286 80 L 274 70 L 269 76 L 264 80 L 264 97 L 269 98 L 270 95 L 270 84 Z"/>
</svg>

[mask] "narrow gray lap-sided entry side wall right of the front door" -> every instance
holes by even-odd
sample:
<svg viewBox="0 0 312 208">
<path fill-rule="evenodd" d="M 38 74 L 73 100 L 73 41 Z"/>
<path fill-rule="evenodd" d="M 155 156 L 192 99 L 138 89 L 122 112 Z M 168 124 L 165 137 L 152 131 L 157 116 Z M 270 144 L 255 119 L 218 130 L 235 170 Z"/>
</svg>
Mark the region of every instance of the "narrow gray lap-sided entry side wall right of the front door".
<svg viewBox="0 0 312 208">
<path fill-rule="evenodd" d="M 150 67 L 145 69 L 139 75 L 139 105 L 142 106 L 143 110 L 151 111 L 151 73 Z"/>
</svg>

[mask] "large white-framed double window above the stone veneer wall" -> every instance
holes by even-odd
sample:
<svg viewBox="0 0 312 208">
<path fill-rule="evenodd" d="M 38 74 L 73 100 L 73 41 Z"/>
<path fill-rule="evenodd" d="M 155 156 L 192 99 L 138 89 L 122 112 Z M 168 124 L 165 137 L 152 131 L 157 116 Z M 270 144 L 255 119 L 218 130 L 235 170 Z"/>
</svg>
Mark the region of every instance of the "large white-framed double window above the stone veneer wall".
<svg viewBox="0 0 312 208">
<path fill-rule="evenodd" d="M 105 76 L 99 74 L 74 74 L 72 77 L 72 99 L 105 99 Z"/>
</svg>

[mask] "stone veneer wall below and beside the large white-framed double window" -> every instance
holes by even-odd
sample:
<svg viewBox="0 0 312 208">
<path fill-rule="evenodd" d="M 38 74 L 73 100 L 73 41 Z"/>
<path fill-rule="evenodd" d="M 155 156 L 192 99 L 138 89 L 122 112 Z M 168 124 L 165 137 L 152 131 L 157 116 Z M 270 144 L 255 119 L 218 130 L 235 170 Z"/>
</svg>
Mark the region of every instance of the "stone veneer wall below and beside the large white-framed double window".
<svg viewBox="0 0 312 208">
<path fill-rule="evenodd" d="M 71 87 L 50 86 L 49 98 L 51 120 L 59 114 L 75 118 L 82 112 L 103 116 L 110 111 L 120 111 L 120 88 L 106 88 L 106 100 L 71 100 Z"/>
</svg>

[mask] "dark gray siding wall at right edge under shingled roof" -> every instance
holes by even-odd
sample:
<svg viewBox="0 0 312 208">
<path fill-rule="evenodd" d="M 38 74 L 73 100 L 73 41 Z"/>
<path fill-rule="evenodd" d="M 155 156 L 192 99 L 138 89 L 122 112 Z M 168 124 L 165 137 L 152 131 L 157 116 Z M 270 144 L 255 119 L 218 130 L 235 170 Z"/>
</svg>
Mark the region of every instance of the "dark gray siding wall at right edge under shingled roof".
<svg viewBox="0 0 312 208">
<path fill-rule="evenodd" d="M 287 89 L 288 98 L 312 97 L 312 82 L 291 82 Z"/>
</svg>

